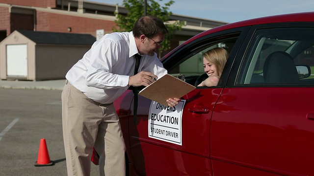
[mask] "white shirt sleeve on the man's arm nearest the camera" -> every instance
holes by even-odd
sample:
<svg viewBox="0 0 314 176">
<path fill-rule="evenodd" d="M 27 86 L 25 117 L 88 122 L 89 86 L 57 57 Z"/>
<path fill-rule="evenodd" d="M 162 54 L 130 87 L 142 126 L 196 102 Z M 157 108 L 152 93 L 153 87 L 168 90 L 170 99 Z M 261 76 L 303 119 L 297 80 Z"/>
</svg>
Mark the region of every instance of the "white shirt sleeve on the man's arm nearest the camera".
<svg viewBox="0 0 314 176">
<path fill-rule="evenodd" d="M 129 46 L 123 43 L 117 44 L 112 40 L 104 40 L 91 48 L 86 56 L 90 60 L 85 80 L 87 86 L 103 89 L 128 86 L 130 76 L 112 73 L 112 67 L 121 57 L 121 50 L 124 47 Z"/>
</svg>

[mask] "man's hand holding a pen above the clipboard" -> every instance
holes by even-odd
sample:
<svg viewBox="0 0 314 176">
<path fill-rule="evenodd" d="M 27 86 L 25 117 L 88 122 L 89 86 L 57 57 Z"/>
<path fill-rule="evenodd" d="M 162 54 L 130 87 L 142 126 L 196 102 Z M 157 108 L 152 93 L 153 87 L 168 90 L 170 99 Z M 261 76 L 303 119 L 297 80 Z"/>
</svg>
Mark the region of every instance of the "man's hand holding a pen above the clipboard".
<svg viewBox="0 0 314 176">
<path fill-rule="evenodd" d="M 134 87 L 148 86 L 155 81 L 153 78 L 158 78 L 158 77 L 151 72 L 141 71 L 134 76 L 130 76 L 129 86 L 134 86 Z"/>
</svg>

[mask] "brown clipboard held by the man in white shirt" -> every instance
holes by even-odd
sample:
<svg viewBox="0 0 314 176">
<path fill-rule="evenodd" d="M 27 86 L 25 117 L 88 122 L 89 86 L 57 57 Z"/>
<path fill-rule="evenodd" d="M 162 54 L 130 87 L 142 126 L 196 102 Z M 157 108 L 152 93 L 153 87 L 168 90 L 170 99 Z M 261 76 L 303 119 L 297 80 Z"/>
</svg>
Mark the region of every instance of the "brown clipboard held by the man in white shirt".
<svg viewBox="0 0 314 176">
<path fill-rule="evenodd" d="M 169 98 L 181 98 L 183 95 L 194 90 L 196 87 L 166 74 L 149 86 L 143 88 L 138 94 L 156 101 L 161 105 L 168 106 L 166 102 Z"/>
</svg>

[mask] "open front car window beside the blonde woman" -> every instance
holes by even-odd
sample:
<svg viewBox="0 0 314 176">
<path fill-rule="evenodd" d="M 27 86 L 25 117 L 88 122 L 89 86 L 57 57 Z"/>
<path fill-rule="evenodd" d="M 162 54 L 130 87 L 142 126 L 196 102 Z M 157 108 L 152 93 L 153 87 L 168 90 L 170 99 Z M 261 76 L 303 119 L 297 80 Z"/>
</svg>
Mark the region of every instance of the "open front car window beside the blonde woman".
<svg viewBox="0 0 314 176">
<path fill-rule="evenodd" d="M 198 48 L 198 50 L 193 51 L 188 58 L 185 58 L 185 61 L 173 67 L 172 69 L 168 69 L 168 73 L 172 76 L 177 77 L 178 75 L 184 75 L 187 83 L 194 85 L 195 81 L 199 76 L 205 73 L 203 66 L 203 54 L 209 49 L 222 47 L 225 48 L 229 53 L 233 48 L 237 38 L 228 38 L 225 40 L 219 40 L 217 42 L 211 42 L 202 47 L 194 47 Z"/>
</svg>

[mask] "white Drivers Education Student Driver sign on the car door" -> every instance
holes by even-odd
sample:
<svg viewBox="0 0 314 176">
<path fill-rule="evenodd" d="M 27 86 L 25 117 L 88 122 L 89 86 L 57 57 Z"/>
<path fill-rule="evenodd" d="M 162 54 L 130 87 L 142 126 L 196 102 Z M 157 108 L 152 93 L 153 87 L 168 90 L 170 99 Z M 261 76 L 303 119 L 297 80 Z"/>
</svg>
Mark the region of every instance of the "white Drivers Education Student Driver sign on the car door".
<svg viewBox="0 0 314 176">
<path fill-rule="evenodd" d="M 182 145 L 182 115 L 185 100 L 171 108 L 152 101 L 148 118 L 148 136 Z"/>
</svg>

